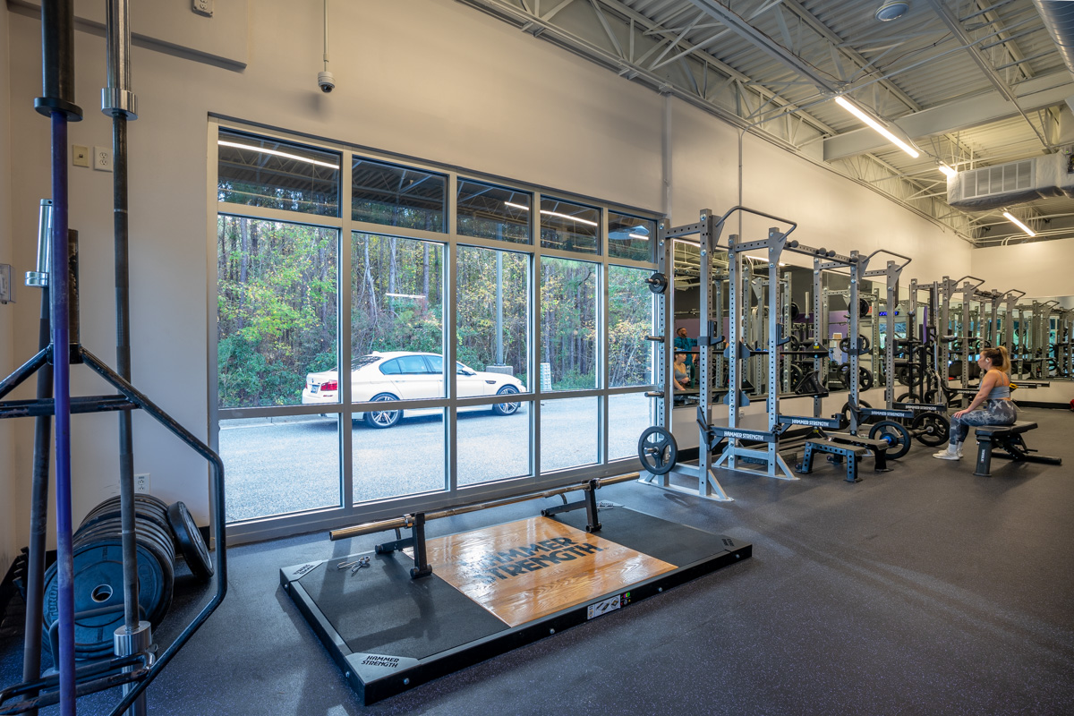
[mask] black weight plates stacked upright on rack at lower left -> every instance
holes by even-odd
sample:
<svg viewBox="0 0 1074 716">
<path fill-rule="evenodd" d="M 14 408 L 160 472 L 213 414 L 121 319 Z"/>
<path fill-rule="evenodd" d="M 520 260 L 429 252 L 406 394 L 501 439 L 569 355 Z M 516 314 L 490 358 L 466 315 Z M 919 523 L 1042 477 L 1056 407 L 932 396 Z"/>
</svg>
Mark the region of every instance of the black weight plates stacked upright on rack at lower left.
<svg viewBox="0 0 1074 716">
<path fill-rule="evenodd" d="M 169 507 L 151 495 L 134 500 L 137 544 L 139 608 L 156 629 L 172 603 L 176 532 L 191 572 L 207 582 L 213 575 L 208 550 L 183 502 Z M 174 526 L 173 526 L 174 525 Z M 100 658 L 113 653 L 113 632 L 124 624 L 124 564 L 119 498 L 98 505 L 74 534 L 75 656 Z M 45 573 L 44 629 L 59 618 L 56 566 Z M 87 615 L 86 612 L 103 612 Z"/>
</svg>

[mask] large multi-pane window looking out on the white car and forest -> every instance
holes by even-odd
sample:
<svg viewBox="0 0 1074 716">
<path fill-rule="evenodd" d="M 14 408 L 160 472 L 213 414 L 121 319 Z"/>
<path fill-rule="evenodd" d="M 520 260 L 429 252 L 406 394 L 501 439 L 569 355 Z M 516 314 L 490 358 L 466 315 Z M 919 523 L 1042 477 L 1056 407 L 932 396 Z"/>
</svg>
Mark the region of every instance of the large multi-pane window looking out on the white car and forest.
<svg viewBox="0 0 1074 716">
<path fill-rule="evenodd" d="M 636 469 L 653 217 L 241 129 L 214 148 L 230 535 Z"/>
</svg>

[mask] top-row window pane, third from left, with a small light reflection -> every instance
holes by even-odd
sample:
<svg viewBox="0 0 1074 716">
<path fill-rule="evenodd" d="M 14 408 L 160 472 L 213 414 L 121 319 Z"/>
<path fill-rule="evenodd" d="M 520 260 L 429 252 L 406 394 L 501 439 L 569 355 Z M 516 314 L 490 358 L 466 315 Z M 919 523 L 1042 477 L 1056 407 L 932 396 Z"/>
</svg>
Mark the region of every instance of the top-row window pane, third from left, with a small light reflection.
<svg viewBox="0 0 1074 716">
<path fill-rule="evenodd" d="M 529 244 L 533 195 L 517 189 L 459 179 L 458 231 L 461 236 Z"/>
</svg>

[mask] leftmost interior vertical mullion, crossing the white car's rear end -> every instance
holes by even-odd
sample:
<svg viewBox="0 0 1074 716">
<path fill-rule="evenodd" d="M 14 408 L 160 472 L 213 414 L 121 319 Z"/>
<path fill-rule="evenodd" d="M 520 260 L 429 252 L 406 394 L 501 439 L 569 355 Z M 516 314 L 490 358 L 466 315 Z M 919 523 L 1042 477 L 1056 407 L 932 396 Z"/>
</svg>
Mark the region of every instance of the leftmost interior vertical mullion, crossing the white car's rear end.
<svg viewBox="0 0 1074 716">
<path fill-rule="evenodd" d="M 351 384 L 351 371 L 349 369 L 353 356 L 351 351 L 351 298 L 353 288 L 353 240 L 351 239 L 351 211 L 350 211 L 350 182 L 344 177 L 350 176 L 350 166 L 353 163 L 351 152 L 343 152 L 342 166 L 345 171 L 339 173 L 339 196 L 346 196 L 346 201 L 339 202 L 339 214 L 343 219 L 339 228 L 339 247 L 337 251 L 336 264 L 336 298 L 337 298 L 337 320 L 339 321 L 338 359 L 339 372 L 339 397 L 343 410 L 339 414 L 339 480 L 342 484 L 343 507 L 350 508 L 354 503 L 354 420 L 352 418 L 353 407 L 353 385 Z M 347 366 L 347 370 L 343 367 Z"/>
</svg>

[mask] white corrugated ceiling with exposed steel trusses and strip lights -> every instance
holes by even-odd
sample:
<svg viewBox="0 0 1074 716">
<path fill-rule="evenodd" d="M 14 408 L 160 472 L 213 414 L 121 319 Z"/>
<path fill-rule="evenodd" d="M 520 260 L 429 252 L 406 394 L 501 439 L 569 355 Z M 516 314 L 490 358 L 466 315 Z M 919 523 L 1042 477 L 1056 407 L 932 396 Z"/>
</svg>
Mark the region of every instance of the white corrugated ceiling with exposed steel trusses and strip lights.
<svg viewBox="0 0 1074 716">
<path fill-rule="evenodd" d="M 890 21 L 875 17 L 884 0 L 459 1 L 824 162 L 975 246 L 1074 236 L 1074 200 L 1011 206 L 1030 238 L 1002 208 L 950 207 L 938 169 L 1074 145 L 1074 76 L 1033 0 L 909 0 Z"/>
</svg>

